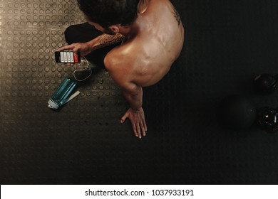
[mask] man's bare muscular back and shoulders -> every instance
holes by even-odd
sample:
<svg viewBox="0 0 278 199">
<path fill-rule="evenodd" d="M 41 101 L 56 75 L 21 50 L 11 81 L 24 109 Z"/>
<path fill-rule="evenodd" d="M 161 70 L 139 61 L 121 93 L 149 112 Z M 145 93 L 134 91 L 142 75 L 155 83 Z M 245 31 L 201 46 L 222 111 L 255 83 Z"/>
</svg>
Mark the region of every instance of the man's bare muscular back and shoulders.
<svg viewBox="0 0 278 199">
<path fill-rule="evenodd" d="M 123 81 L 142 87 L 153 85 L 170 70 L 182 50 L 184 30 L 180 16 L 170 1 L 151 0 L 131 28 L 130 36 L 110 51 L 106 60 L 110 60 L 112 70 L 113 63 L 118 64 L 120 70 L 114 68 L 113 72 L 124 72 Z"/>
</svg>

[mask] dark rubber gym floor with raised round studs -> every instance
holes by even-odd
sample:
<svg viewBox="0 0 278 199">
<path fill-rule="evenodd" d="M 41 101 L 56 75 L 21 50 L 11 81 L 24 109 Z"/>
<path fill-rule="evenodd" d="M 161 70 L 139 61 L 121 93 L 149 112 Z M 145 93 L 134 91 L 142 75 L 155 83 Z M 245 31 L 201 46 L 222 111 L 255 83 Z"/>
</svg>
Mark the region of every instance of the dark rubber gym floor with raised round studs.
<svg viewBox="0 0 278 199">
<path fill-rule="evenodd" d="M 84 21 L 75 0 L 0 0 L 1 184 L 276 184 L 278 134 L 217 122 L 220 100 L 255 95 L 276 75 L 278 1 L 173 1 L 185 26 L 180 58 L 144 89 L 148 134 L 136 139 L 128 108 L 105 70 L 52 111 L 48 99 L 74 67 L 56 64 L 63 31 Z"/>
</svg>

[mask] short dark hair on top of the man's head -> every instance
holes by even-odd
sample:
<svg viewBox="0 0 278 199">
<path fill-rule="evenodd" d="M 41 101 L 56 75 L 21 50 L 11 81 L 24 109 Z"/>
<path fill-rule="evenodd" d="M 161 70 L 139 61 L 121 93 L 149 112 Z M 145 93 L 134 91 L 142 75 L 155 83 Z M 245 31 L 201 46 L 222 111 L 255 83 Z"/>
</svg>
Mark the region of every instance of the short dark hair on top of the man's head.
<svg viewBox="0 0 278 199">
<path fill-rule="evenodd" d="M 139 0 L 77 0 L 88 19 L 103 28 L 121 24 L 128 26 L 137 18 Z"/>
</svg>

